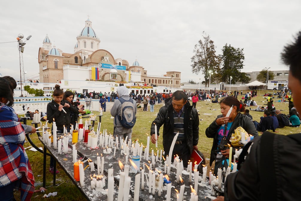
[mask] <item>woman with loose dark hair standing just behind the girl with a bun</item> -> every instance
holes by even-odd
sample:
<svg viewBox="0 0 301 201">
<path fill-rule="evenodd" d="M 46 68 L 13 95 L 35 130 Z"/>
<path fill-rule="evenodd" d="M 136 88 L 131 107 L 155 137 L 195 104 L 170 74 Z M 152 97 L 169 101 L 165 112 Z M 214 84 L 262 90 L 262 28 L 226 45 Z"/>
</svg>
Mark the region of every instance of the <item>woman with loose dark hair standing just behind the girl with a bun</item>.
<svg viewBox="0 0 301 201">
<path fill-rule="evenodd" d="M 82 110 L 84 105 L 78 105 L 77 107 L 74 106 L 73 99 L 74 99 L 74 94 L 71 91 L 64 92 L 63 100 L 66 100 L 67 102 L 70 103 L 70 118 L 71 118 L 70 124 L 73 125 L 73 129 L 75 130 L 75 125 L 78 120 L 78 114 L 79 113 L 85 114 L 85 111 Z"/>
</svg>

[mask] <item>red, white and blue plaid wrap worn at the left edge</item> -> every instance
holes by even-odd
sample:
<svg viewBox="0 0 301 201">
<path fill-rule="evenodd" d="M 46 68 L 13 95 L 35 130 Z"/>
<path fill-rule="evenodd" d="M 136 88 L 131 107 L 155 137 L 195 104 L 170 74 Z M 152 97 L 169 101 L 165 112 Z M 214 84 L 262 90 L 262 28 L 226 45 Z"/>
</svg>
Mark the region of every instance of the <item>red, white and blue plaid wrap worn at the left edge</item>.
<svg viewBox="0 0 301 201">
<path fill-rule="evenodd" d="M 22 201 L 30 200 L 35 190 L 24 140 L 24 128 L 14 109 L 0 102 L 0 187 L 20 179 Z"/>
</svg>

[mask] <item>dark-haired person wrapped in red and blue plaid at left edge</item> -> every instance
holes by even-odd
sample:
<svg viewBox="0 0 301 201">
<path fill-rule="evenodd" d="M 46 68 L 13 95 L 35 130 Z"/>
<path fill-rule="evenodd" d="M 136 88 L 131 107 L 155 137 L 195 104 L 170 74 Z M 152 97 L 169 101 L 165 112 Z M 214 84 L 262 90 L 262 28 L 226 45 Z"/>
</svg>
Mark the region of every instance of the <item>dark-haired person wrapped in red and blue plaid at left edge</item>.
<svg viewBox="0 0 301 201">
<path fill-rule="evenodd" d="M 21 191 L 20 200 L 30 200 L 34 177 L 23 147 L 24 127 L 11 107 L 13 91 L 9 81 L 0 78 L 0 194 L 1 200 L 14 200 L 14 189 Z"/>
</svg>

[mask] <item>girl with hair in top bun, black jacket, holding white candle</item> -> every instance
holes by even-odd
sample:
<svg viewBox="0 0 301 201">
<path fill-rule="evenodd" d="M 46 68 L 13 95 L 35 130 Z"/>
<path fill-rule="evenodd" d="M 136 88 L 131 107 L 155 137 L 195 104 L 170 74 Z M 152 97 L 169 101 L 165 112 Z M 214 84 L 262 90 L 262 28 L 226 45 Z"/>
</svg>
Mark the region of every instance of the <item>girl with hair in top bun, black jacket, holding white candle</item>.
<svg viewBox="0 0 301 201">
<path fill-rule="evenodd" d="M 70 132 L 70 110 L 73 112 L 78 112 L 75 107 L 71 107 L 71 104 L 66 100 L 63 100 L 64 92 L 60 89 L 60 85 L 55 85 L 55 90 L 53 91 L 53 100 L 48 103 L 47 105 L 47 119 L 49 123 L 53 121 L 56 122 L 57 132 L 63 133 L 64 126 L 66 127 L 67 131 Z M 53 127 L 51 128 L 53 130 Z M 51 173 L 54 172 L 53 170 L 53 157 L 50 157 L 50 169 Z M 58 174 L 59 171 L 56 171 Z"/>
</svg>

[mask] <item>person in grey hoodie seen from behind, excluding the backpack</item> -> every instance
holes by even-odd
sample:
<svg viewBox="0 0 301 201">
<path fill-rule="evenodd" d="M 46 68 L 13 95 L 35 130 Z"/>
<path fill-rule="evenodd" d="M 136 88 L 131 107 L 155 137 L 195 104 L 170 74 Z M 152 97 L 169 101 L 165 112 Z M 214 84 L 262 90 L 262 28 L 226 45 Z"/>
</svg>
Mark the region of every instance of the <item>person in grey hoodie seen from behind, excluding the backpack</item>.
<svg viewBox="0 0 301 201">
<path fill-rule="evenodd" d="M 124 99 L 126 101 L 131 101 L 134 104 L 135 115 L 137 113 L 136 102 L 134 99 L 129 97 L 129 90 L 126 86 L 119 86 L 117 88 L 118 99 L 115 100 L 113 107 L 111 108 L 111 115 L 114 117 L 114 136 L 123 137 L 123 139 L 128 136 L 128 140 L 132 137 L 132 128 L 125 128 L 122 126 L 118 119 L 118 115 L 121 115 L 121 102 L 119 99 Z"/>
</svg>

